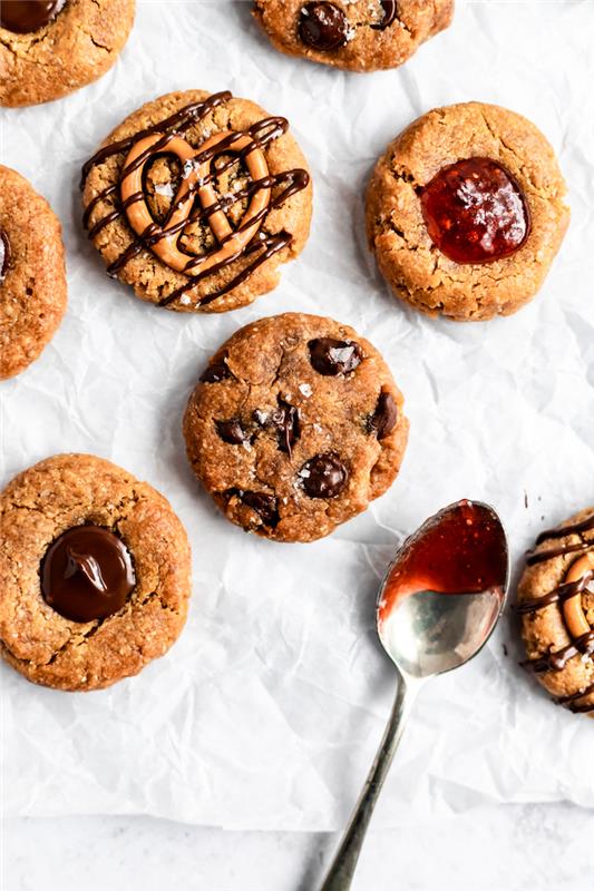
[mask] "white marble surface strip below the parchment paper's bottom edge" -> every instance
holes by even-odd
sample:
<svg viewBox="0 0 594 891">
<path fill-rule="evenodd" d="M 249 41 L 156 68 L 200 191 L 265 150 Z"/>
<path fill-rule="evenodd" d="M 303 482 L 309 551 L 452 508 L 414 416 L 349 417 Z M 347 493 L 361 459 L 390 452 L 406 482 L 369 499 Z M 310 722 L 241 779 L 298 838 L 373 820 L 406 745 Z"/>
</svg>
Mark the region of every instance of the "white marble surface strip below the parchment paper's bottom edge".
<svg viewBox="0 0 594 891">
<path fill-rule="evenodd" d="M 353 891 L 592 891 L 594 814 L 481 807 L 370 832 Z M 236 833 L 149 817 L 3 825 L 2 891 L 315 891 L 335 839 Z"/>
</svg>

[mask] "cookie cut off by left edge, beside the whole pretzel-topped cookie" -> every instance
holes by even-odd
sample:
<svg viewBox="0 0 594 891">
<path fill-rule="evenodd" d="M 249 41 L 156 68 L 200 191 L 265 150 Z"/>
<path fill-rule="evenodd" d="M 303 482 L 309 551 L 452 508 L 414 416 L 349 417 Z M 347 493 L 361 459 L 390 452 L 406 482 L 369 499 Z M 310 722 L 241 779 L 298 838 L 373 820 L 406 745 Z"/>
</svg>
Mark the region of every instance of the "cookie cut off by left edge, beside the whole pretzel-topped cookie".
<svg viewBox="0 0 594 891">
<path fill-rule="evenodd" d="M 27 179 L 0 165 L 0 380 L 38 359 L 66 301 L 58 217 Z"/>
</svg>

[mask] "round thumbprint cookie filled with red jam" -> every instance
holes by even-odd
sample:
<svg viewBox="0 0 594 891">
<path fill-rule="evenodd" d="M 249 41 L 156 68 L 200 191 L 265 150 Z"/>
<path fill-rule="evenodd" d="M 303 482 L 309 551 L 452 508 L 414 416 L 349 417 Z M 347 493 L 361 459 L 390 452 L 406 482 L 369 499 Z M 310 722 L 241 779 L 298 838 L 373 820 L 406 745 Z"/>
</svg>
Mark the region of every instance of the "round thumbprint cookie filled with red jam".
<svg viewBox="0 0 594 891">
<path fill-rule="evenodd" d="M 541 288 L 569 223 L 552 147 L 493 105 L 437 108 L 379 159 L 367 234 L 395 294 L 429 315 L 510 315 Z"/>
</svg>

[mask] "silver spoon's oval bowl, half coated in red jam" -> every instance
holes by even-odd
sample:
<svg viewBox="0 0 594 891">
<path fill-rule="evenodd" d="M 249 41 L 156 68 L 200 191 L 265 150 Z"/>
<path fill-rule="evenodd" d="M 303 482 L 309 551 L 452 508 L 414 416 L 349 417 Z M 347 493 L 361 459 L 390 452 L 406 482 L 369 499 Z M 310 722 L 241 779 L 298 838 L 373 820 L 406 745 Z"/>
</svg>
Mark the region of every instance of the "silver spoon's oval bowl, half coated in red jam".
<svg viewBox="0 0 594 891">
<path fill-rule="evenodd" d="M 378 595 L 383 648 L 416 678 L 458 668 L 487 643 L 505 605 L 509 554 L 488 505 L 458 501 L 398 550 Z"/>
</svg>

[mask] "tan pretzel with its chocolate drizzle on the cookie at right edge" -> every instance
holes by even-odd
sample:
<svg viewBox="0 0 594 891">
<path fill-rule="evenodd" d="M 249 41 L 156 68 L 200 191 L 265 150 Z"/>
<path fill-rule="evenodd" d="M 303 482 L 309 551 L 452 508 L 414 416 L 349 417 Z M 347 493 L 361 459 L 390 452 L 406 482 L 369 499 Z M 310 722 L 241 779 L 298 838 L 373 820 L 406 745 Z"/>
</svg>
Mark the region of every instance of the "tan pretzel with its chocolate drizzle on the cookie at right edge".
<svg viewBox="0 0 594 891">
<path fill-rule="evenodd" d="M 563 526 L 557 529 L 549 529 L 542 532 L 536 539 L 536 545 L 541 545 L 549 539 L 565 538 L 566 536 L 586 532 L 594 528 L 594 516 L 582 520 L 581 522 L 573 523 L 572 526 Z M 543 656 L 537 656 L 532 659 L 525 659 L 520 665 L 529 668 L 536 674 L 545 672 L 561 672 L 565 668 L 569 659 L 575 656 L 592 656 L 594 655 L 594 630 L 590 628 L 582 607 L 582 593 L 587 588 L 588 584 L 594 578 L 594 541 L 580 542 L 578 545 L 565 545 L 557 548 L 547 548 L 542 551 L 528 551 L 526 562 L 528 566 L 551 560 L 554 557 L 563 557 L 566 554 L 582 552 L 572 566 L 569 567 L 565 582 L 557 586 L 548 594 L 537 597 L 534 600 L 528 600 L 516 607 L 519 614 L 536 613 L 537 610 L 545 609 L 554 604 L 559 604 L 565 619 L 565 625 L 569 636 L 573 638 L 572 643 L 567 644 L 561 649 L 552 653 L 546 653 Z M 588 687 L 572 693 L 567 696 L 561 696 L 556 699 L 559 705 L 567 706 L 572 712 L 587 713 L 594 712 L 594 704 L 576 704 L 582 697 L 588 696 L 594 693 L 594 684 Z"/>
</svg>

